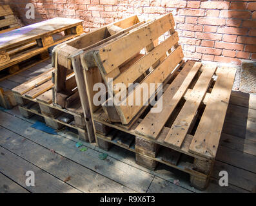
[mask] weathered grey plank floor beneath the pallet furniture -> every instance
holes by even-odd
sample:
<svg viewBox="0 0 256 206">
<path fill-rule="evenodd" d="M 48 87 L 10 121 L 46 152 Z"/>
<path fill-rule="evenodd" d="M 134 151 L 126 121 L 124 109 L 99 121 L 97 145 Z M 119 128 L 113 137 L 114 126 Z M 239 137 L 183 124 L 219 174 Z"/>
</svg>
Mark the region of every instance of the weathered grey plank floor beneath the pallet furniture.
<svg viewBox="0 0 256 206">
<path fill-rule="evenodd" d="M 3 80 L 12 89 L 51 68 L 50 61 Z M 81 152 L 68 130 L 49 135 L 30 126 L 19 110 L 0 110 L 0 192 L 251 192 L 256 187 L 256 97 L 233 91 L 212 180 L 206 191 L 189 184 L 189 175 L 159 165 L 150 171 L 135 164 L 135 154 L 112 147 L 106 160 L 95 144 Z M 35 187 L 25 185 L 34 171 Z M 228 187 L 219 186 L 219 171 L 228 171 Z M 179 180 L 179 181 L 177 181 Z M 177 183 L 178 185 L 174 184 Z"/>
</svg>

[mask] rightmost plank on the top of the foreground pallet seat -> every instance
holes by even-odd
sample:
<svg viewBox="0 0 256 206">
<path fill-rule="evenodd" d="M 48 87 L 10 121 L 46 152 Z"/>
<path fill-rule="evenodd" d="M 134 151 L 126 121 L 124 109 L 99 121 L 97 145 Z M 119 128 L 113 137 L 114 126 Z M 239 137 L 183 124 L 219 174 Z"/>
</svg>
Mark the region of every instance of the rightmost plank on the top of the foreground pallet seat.
<svg viewBox="0 0 256 206">
<path fill-rule="evenodd" d="M 192 144 L 190 145 L 191 153 L 215 158 L 230 100 L 235 71 L 235 68 L 219 68 L 216 71 L 218 78 L 212 89 L 197 131 L 195 131 Z"/>
</svg>

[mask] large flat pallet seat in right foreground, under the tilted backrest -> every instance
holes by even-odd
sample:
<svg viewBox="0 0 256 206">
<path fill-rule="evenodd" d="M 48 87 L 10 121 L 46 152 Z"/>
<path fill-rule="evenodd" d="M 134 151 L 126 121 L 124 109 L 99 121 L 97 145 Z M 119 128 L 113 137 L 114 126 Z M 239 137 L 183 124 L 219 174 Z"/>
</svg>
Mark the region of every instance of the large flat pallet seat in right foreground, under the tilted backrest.
<svg viewBox="0 0 256 206">
<path fill-rule="evenodd" d="M 164 86 L 161 112 L 151 113 L 148 106 L 133 118 L 132 123 L 123 125 L 110 122 L 103 109 L 99 109 L 93 115 L 95 129 L 97 138 L 101 139 L 98 144 L 100 142 L 99 146 L 103 149 L 108 149 L 110 143 L 119 145 L 134 151 L 138 164 L 154 169 L 157 162 L 162 162 L 189 173 L 192 185 L 205 189 L 218 149 L 236 70 L 210 64 L 202 66 L 200 62 L 193 61 L 186 62 L 181 68 Z M 124 146 L 115 135 L 104 133 L 110 128 L 132 135 L 136 140 L 135 147 L 134 144 Z M 159 147 L 168 148 L 170 152 L 162 152 L 157 149 Z M 173 159 L 177 153 L 189 156 L 193 161 L 179 167 L 184 162 L 172 165 L 170 161 L 166 163 L 166 160 L 159 159 L 162 154 Z"/>
</svg>

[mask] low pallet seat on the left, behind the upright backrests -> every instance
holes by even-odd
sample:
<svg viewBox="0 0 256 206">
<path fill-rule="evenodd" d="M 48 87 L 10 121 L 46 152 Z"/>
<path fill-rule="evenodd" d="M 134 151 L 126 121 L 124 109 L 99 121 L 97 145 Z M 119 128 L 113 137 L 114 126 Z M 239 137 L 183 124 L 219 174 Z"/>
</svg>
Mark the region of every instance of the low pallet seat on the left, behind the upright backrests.
<svg viewBox="0 0 256 206">
<path fill-rule="evenodd" d="M 67 109 L 52 104 L 52 71 L 54 69 L 12 89 L 21 115 L 25 118 L 39 115 L 44 118 L 47 126 L 57 130 L 63 127 L 77 129 L 79 138 L 88 142 L 81 103 L 72 102 Z"/>
</svg>

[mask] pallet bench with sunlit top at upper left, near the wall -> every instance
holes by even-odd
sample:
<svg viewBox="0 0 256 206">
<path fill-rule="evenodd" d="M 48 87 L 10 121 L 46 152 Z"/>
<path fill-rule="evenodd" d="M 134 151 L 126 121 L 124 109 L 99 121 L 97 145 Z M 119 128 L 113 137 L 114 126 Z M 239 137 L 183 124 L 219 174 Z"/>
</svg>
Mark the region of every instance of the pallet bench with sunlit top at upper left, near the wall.
<svg viewBox="0 0 256 206">
<path fill-rule="evenodd" d="M 78 19 L 54 18 L 0 34 L 0 71 L 5 77 L 49 58 L 48 48 L 83 33 Z"/>
</svg>

